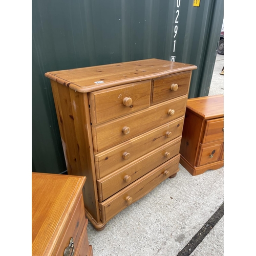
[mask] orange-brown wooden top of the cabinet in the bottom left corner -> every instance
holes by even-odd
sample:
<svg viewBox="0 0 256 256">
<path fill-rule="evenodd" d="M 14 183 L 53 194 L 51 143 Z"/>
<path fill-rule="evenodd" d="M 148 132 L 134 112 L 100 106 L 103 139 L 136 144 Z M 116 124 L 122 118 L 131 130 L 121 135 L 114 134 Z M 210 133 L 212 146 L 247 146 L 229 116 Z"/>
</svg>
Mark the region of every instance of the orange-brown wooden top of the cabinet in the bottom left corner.
<svg viewBox="0 0 256 256">
<path fill-rule="evenodd" d="M 86 177 L 32 173 L 32 255 L 56 253 L 85 181 Z"/>
</svg>

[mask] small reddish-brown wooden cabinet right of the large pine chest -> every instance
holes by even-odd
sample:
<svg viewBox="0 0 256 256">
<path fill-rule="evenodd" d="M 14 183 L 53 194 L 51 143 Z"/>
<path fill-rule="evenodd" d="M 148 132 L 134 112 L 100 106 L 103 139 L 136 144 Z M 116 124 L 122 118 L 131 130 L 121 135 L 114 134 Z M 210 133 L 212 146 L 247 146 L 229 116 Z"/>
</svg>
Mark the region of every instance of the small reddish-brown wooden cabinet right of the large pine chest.
<svg viewBox="0 0 256 256">
<path fill-rule="evenodd" d="M 180 163 L 193 176 L 224 165 L 223 105 L 223 95 L 187 100 Z"/>
</svg>

